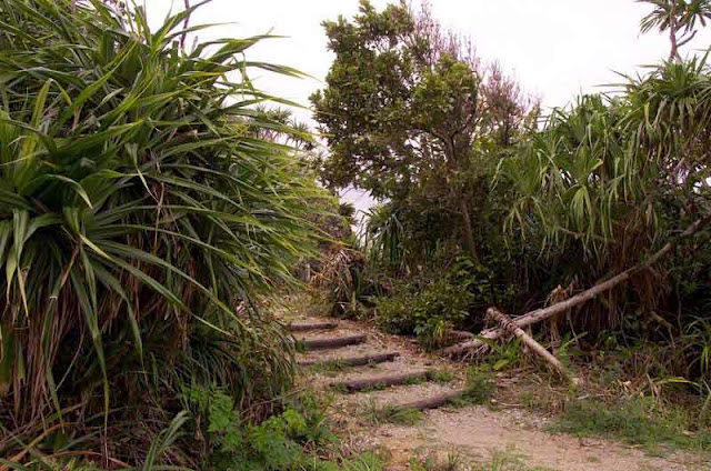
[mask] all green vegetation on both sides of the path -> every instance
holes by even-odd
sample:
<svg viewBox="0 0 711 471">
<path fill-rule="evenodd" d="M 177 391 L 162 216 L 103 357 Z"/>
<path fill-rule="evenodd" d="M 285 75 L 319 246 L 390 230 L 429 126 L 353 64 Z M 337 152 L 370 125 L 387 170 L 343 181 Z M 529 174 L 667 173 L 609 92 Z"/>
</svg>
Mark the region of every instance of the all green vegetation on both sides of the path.
<svg viewBox="0 0 711 471">
<path fill-rule="evenodd" d="M 531 332 L 645 385 L 554 427 L 711 447 L 711 70 L 681 54 L 711 2 L 644 0 L 668 60 L 542 117 L 427 6 L 362 0 L 324 22 L 326 152 L 249 79 L 300 77 L 247 58 L 269 37 L 186 44 L 203 3 L 151 30 L 122 1 L 0 0 L 0 471 L 380 469 L 294 392 L 263 301 L 297 275 L 432 350 L 619 279 Z M 360 234 L 346 187 L 381 201 Z M 523 361 L 488 347 L 474 402 Z"/>
</svg>

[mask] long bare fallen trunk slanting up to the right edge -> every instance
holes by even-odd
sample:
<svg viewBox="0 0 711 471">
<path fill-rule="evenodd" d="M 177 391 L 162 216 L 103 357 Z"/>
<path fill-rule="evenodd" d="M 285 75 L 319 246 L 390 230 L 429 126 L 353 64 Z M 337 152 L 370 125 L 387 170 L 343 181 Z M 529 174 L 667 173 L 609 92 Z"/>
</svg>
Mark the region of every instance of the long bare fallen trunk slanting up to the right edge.
<svg viewBox="0 0 711 471">
<path fill-rule="evenodd" d="M 637 272 L 647 270 L 648 268 L 657 263 L 660 259 L 668 255 L 672 251 L 672 249 L 677 245 L 680 239 L 695 234 L 709 222 L 711 222 L 711 214 L 708 214 L 702 219 L 699 219 L 693 224 L 691 224 L 689 228 L 687 228 L 685 231 L 683 231 L 679 236 L 679 238 L 677 238 L 675 240 L 669 241 L 664 247 L 661 248 L 661 250 L 659 250 L 657 253 L 654 253 L 643 263 L 640 263 L 635 267 L 624 270 L 623 272 L 610 278 L 609 280 L 603 281 L 602 283 L 597 284 L 590 288 L 589 290 L 581 292 L 580 294 L 575 294 L 574 297 L 565 301 L 558 302 L 545 309 L 537 309 L 535 311 L 531 311 L 523 315 L 520 315 L 515 318 L 513 322 L 520 328 L 531 325 L 531 324 L 541 322 L 542 320 L 545 320 L 548 318 L 551 318 L 555 314 L 570 311 L 572 308 L 577 308 L 578 305 L 581 305 L 590 301 L 591 299 L 594 299 L 600 294 L 607 291 L 610 291 L 612 288 L 632 278 L 632 275 L 634 275 Z M 448 347 L 445 349 L 442 349 L 441 352 L 449 357 L 459 355 L 470 350 L 479 349 L 487 344 L 485 342 L 487 340 L 499 339 L 504 333 L 505 333 L 505 330 L 503 329 L 488 329 L 482 331 L 479 334 L 479 339 L 471 340 L 463 343 L 458 343 L 452 347 Z"/>
</svg>

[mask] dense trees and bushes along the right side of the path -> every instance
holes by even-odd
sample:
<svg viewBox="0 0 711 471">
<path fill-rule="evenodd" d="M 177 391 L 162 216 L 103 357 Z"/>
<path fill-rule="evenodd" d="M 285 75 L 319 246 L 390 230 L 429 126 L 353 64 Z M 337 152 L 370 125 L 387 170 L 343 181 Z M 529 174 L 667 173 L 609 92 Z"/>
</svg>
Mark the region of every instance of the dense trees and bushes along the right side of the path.
<svg viewBox="0 0 711 471">
<path fill-rule="evenodd" d="M 684 378 L 708 408 L 711 72 L 680 51 L 711 4 L 645 3 L 641 30 L 669 34 L 669 59 L 544 117 L 427 8 L 362 1 L 326 22 L 323 180 L 382 201 L 351 242 L 365 258 L 331 253 L 333 311 L 433 349 L 484 328 L 488 307 L 523 314 L 610 280 L 534 334 L 561 353 L 574 339 L 581 365 L 610 342 L 657 349 L 625 374 Z"/>
</svg>

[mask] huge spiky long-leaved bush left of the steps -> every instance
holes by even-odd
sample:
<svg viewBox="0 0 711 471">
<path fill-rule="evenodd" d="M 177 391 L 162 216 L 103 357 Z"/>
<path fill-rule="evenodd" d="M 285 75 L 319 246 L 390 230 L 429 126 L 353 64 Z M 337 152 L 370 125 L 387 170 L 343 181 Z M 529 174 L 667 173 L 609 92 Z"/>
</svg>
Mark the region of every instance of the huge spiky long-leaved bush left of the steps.
<svg viewBox="0 0 711 471">
<path fill-rule="evenodd" d="M 246 58 L 263 38 L 180 49 L 193 10 L 151 31 L 141 8 L 0 1 L 0 454 L 66 422 L 142 462 L 182 384 L 256 418 L 291 384 L 252 299 L 311 253 L 322 192 L 246 73 L 298 73 Z"/>
</svg>

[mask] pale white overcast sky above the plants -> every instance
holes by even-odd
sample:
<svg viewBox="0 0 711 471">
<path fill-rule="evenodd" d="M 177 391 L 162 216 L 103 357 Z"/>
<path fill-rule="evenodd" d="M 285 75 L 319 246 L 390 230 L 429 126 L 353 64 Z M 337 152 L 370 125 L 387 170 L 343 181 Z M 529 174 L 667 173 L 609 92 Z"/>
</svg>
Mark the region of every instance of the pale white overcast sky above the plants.
<svg viewBox="0 0 711 471">
<path fill-rule="evenodd" d="M 183 4 L 142 1 L 152 24 L 160 23 L 173 3 L 174 9 Z M 388 1 L 372 3 L 381 8 Z M 544 107 L 564 106 L 580 92 L 619 82 L 614 71 L 634 73 L 669 52 L 667 38 L 639 34 L 639 21 L 649 7 L 634 0 L 431 0 L 431 6 L 444 27 L 470 36 L 484 62 L 498 60 Z M 201 40 L 270 31 L 288 37 L 263 41 L 248 51 L 248 58 L 291 66 L 313 79 L 266 72 L 253 72 L 252 78 L 258 87 L 306 106 L 309 96 L 323 87 L 333 60 L 321 21 L 357 11 L 358 0 L 214 0 L 193 14 L 191 24 L 232 23 L 201 31 Z M 711 34 L 702 31 L 684 52 L 709 44 Z M 307 110 L 297 114 L 310 117 Z M 361 198 L 357 193 L 346 199 Z"/>
</svg>

